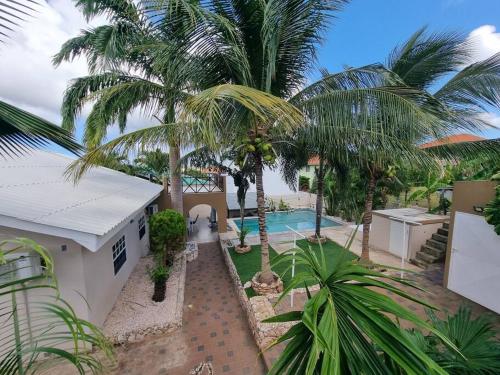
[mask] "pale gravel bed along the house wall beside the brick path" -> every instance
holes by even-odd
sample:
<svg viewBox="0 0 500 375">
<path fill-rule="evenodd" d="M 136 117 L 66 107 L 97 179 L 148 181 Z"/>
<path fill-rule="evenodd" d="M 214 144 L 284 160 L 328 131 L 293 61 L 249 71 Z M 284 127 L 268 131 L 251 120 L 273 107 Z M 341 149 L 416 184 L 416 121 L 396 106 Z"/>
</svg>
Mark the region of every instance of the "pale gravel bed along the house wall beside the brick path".
<svg viewBox="0 0 500 375">
<path fill-rule="evenodd" d="M 147 268 L 152 256 L 139 260 L 104 322 L 104 334 L 115 344 L 141 341 L 149 334 L 167 333 L 182 326 L 186 255 L 180 255 L 167 280 L 166 298 L 153 302 L 153 283 Z"/>
</svg>

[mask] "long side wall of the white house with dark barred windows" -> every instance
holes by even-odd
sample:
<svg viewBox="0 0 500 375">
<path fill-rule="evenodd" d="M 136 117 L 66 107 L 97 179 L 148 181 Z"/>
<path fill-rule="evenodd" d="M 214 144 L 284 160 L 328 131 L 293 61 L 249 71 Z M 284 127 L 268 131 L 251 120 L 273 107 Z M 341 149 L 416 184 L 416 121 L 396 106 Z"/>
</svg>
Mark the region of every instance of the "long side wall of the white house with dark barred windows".
<svg viewBox="0 0 500 375">
<path fill-rule="evenodd" d="M 120 294 L 130 273 L 137 265 L 141 256 L 149 251 L 149 228 L 146 220 L 146 234 L 139 239 L 139 218 L 144 213 L 138 213 L 119 233 L 111 238 L 98 252 L 83 251 L 83 271 L 85 278 L 86 298 L 90 305 L 89 320 L 102 325 Z M 125 235 L 127 260 L 114 274 L 112 247 Z"/>
</svg>

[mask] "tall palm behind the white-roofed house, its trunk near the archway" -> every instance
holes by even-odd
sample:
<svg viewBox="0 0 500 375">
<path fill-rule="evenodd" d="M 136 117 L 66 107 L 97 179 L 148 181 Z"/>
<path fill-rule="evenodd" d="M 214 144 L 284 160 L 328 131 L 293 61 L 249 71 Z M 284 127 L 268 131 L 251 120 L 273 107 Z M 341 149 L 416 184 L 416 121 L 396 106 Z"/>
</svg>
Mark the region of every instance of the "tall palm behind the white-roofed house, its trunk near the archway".
<svg viewBox="0 0 500 375">
<path fill-rule="evenodd" d="M 87 19 L 105 14 L 110 23 L 82 31 L 54 57 L 54 64 L 59 65 L 86 56 L 91 72 L 68 87 L 62 105 L 63 127 L 74 131 L 75 117 L 89 101 L 94 104 L 84 140 L 90 149 L 102 143 L 110 125 L 118 123 L 124 132 L 127 117 L 135 109 L 159 122 L 132 137 L 142 139 L 142 150 L 168 144 L 172 206 L 183 213 L 178 161 L 186 138 L 177 113 L 192 92 L 216 77 L 190 50 L 199 32 L 193 17 L 201 8 L 176 1 L 75 2 Z M 155 141 L 149 144 L 152 136 Z"/>
</svg>

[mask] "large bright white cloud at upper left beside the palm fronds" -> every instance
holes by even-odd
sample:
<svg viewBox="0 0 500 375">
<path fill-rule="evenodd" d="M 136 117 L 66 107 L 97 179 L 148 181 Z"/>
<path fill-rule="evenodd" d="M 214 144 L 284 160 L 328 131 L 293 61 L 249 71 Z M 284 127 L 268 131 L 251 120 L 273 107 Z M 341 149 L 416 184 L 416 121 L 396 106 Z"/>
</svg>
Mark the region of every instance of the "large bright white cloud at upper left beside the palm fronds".
<svg viewBox="0 0 500 375">
<path fill-rule="evenodd" d="M 0 46 L 0 99 L 59 124 L 60 108 L 71 79 L 88 74 L 85 59 L 62 63 L 55 68 L 52 57 L 68 39 L 80 30 L 104 24 L 99 17 L 89 24 L 71 0 L 42 0 L 33 18 L 23 22 L 12 33 L 6 45 Z M 89 112 L 84 110 L 83 116 Z M 78 123 L 82 123 L 81 119 Z M 130 116 L 130 129 L 150 125 L 138 112 Z M 113 128 L 108 139 L 118 135 Z"/>
</svg>

